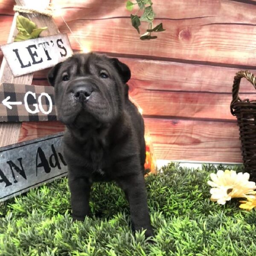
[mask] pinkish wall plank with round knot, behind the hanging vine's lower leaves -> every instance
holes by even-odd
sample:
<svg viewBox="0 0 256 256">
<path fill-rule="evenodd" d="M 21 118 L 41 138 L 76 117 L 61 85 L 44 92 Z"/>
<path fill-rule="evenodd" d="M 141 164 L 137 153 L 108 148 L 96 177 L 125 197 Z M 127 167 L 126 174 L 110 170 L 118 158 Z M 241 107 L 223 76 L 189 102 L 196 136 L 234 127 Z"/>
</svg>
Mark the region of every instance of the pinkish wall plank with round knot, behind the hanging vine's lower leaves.
<svg viewBox="0 0 256 256">
<path fill-rule="evenodd" d="M 158 41 L 147 42 L 135 40 L 136 31 L 131 27 L 130 19 L 116 18 L 111 20 L 77 20 L 69 23 L 70 28 L 78 31 L 88 30 L 90 33 L 80 34 L 81 43 L 99 52 L 115 52 L 119 55 L 140 55 L 146 58 L 182 61 L 189 60 L 200 63 L 233 64 L 239 66 L 253 66 L 256 57 L 256 35 L 254 26 L 230 24 L 196 25 L 186 21 L 165 21 L 168 28 L 159 34 Z M 126 29 L 123 29 L 126 27 Z M 93 29 L 92 29 L 93 28 Z M 66 26 L 60 27 L 61 32 L 68 32 Z M 104 32 L 104 33 L 103 33 Z M 240 35 L 250 35 L 244 37 Z M 115 36 L 118 35 L 118 36 Z M 80 49 L 73 35 L 70 35 L 73 49 Z"/>
</svg>

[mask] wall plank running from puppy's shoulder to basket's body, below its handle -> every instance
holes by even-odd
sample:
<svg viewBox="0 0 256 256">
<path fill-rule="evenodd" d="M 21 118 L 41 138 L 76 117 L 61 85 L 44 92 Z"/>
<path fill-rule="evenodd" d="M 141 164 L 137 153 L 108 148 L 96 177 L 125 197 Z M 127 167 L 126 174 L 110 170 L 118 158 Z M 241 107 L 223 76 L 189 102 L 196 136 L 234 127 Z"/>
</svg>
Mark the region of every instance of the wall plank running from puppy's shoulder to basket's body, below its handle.
<svg viewBox="0 0 256 256">
<path fill-rule="evenodd" d="M 236 122 L 144 118 L 153 143 L 198 145 L 239 139 Z M 237 144 L 238 145 L 238 144 Z"/>
</svg>

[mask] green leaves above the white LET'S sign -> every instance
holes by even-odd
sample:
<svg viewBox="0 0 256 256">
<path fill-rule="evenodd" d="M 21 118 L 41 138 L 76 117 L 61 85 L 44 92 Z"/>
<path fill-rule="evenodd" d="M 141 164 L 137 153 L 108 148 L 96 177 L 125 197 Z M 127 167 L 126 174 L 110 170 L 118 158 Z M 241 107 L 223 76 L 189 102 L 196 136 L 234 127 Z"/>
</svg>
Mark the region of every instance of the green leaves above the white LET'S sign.
<svg viewBox="0 0 256 256">
<path fill-rule="evenodd" d="M 34 22 L 22 15 L 17 16 L 16 27 L 19 32 L 14 39 L 15 42 L 38 38 L 41 32 L 47 29 L 47 27 L 37 28 Z"/>
</svg>

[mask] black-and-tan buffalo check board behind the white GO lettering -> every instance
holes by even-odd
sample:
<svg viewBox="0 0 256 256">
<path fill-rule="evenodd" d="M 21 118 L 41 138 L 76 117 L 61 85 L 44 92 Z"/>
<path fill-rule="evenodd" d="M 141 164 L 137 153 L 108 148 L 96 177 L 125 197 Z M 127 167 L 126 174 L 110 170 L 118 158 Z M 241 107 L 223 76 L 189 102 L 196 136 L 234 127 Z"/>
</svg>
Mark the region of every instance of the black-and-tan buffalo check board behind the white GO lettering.
<svg viewBox="0 0 256 256">
<path fill-rule="evenodd" d="M 35 93 L 35 98 L 31 94 L 27 97 L 29 109 L 35 110 L 33 104 L 38 104 L 38 97 L 41 93 L 47 93 L 52 99 L 52 111 L 49 114 L 44 114 L 40 111 L 32 114 L 26 111 L 24 105 L 24 96 L 26 92 Z M 57 120 L 55 102 L 53 97 L 53 87 L 27 84 L 11 84 L 2 83 L 0 85 L 0 122 L 29 122 L 29 121 L 55 121 Z M 12 109 L 7 108 L 3 104 L 3 100 L 10 97 L 8 102 L 22 102 L 21 105 L 11 105 Z M 42 108 L 44 111 L 49 110 L 49 100 L 46 96 L 41 97 Z"/>
</svg>

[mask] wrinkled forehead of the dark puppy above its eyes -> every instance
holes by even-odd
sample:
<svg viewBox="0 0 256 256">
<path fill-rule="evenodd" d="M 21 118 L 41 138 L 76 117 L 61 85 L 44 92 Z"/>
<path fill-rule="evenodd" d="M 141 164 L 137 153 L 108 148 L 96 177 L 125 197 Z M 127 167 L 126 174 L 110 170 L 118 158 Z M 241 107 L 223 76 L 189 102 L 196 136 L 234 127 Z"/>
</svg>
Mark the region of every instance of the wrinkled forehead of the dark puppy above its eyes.
<svg viewBox="0 0 256 256">
<path fill-rule="evenodd" d="M 110 72 L 111 62 L 105 56 L 96 55 L 73 55 L 64 61 L 59 73 L 77 74 L 79 76 L 106 70 Z"/>
</svg>

